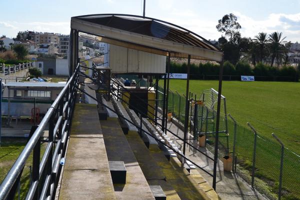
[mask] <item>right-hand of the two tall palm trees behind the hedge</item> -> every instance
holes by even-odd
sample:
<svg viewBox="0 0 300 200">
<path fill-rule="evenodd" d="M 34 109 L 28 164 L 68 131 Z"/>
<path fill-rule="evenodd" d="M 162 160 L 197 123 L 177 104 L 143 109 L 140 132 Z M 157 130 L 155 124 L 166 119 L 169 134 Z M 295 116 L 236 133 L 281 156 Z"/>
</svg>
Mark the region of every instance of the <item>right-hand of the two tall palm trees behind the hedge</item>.
<svg viewBox="0 0 300 200">
<path fill-rule="evenodd" d="M 274 60 L 276 60 L 277 66 L 282 62 L 282 58 L 284 57 L 284 52 L 286 48 L 283 44 L 281 44 L 282 40 L 282 32 L 272 32 L 269 34 L 269 47 L 271 52 L 271 66 L 273 66 Z"/>
</svg>

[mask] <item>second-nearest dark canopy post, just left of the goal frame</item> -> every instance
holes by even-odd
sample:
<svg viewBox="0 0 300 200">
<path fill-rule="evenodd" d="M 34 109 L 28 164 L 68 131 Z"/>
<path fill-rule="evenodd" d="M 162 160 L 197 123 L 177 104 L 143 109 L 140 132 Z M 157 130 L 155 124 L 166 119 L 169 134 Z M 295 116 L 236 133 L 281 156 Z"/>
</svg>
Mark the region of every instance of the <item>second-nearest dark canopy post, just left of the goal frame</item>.
<svg viewBox="0 0 300 200">
<path fill-rule="evenodd" d="M 187 57 L 187 78 L 186 78 L 186 92 L 185 92 L 185 114 L 184 114 L 184 135 L 183 135 L 183 155 L 185 155 L 186 136 L 188 128 L 188 110 L 189 110 L 189 99 L 188 99 L 188 88 L 189 88 L 189 67 L 190 67 L 190 55 Z M 182 160 L 183 162 L 183 160 Z"/>
</svg>

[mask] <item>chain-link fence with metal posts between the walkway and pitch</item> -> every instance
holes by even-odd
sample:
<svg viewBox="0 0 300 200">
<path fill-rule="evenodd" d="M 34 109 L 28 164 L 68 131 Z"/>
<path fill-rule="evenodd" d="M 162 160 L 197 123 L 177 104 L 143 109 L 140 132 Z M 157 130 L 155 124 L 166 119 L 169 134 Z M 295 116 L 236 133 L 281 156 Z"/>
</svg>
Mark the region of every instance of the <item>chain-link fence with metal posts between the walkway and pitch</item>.
<svg viewBox="0 0 300 200">
<path fill-rule="evenodd" d="M 162 99 L 162 96 L 162 88 L 159 88 L 158 99 Z M 199 100 L 190 98 L 189 102 L 189 131 L 196 136 L 205 135 L 205 146 L 213 152 L 216 110 L 214 106 L 206 107 L 200 97 Z M 158 106 L 162 108 L 162 100 L 158 101 Z M 221 107 L 223 106 L 222 102 Z M 185 97 L 169 91 L 167 110 L 183 123 Z M 193 124 L 196 124 L 195 128 Z M 250 128 L 250 124 L 237 123 L 233 117 L 227 117 L 222 112 L 219 123 L 219 157 L 229 155 L 232 158 L 232 171 L 266 197 L 300 199 L 300 156 L 287 148 L 281 150 L 281 145 L 277 141 L 266 138 L 254 130 Z"/>
</svg>

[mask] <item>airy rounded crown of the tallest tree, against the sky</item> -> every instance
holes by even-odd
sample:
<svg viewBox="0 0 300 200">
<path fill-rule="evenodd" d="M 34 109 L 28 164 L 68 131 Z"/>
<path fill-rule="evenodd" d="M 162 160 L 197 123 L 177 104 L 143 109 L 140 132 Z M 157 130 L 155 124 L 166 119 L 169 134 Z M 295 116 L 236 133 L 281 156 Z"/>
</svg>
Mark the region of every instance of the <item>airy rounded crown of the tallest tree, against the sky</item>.
<svg viewBox="0 0 300 200">
<path fill-rule="evenodd" d="M 239 29 L 241 26 L 237 22 L 237 17 L 232 13 L 225 14 L 218 20 L 218 24 L 215 27 L 219 32 L 225 34 L 229 42 L 237 42 L 237 39 L 240 38 Z"/>
</svg>

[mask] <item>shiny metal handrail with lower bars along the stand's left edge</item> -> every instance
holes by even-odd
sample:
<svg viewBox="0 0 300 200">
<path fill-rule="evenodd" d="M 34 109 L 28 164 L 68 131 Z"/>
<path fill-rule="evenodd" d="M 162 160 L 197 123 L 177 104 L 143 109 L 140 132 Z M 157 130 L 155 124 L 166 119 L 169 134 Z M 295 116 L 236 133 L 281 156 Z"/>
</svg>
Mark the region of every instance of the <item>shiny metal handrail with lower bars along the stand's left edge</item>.
<svg viewBox="0 0 300 200">
<path fill-rule="evenodd" d="M 31 151 L 33 151 L 33 159 L 34 159 L 34 149 L 36 147 L 40 148 L 40 144 L 38 143 L 38 141 L 40 140 L 43 130 L 46 127 L 46 124 L 48 124 L 48 123 L 49 123 L 49 135 L 48 135 L 48 137 L 49 137 L 48 146 L 49 147 L 48 148 L 52 147 L 53 143 L 51 143 L 51 142 L 53 142 L 53 135 L 51 135 L 51 129 L 52 129 L 52 131 L 54 129 L 53 129 L 53 127 L 50 127 L 50 126 L 54 126 L 53 119 L 54 119 L 55 111 L 58 108 L 58 106 L 60 109 L 59 114 L 63 115 L 61 110 L 62 110 L 63 99 L 65 97 L 65 94 L 66 94 L 65 104 L 66 103 L 69 104 L 69 109 L 65 110 L 67 112 L 66 120 L 68 120 L 68 121 L 71 120 L 71 118 L 70 119 L 68 118 L 68 116 L 70 114 L 68 111 L 72 112 L 71 104 L 74 103 L 73 95 L 75 95 L 75 91 L 76 91 L 76 86 L 73 85 L 73 83 L 75 83 L 76 79 L 78 79 L 78 69 L 79 69 L 79 64 L 77 64 L 74 73 L 71 75 L 71 77 L 69 78 L 69 80 L 67 81 L 65 86 L 62 88 L 62 90 L 60 91 L 60 93 L 58 94 L 58 96 L 56 97 L 54 102 L 51 104 L 51 106 L 49 107 L 45 116 L 39 123 L 38 127 L 32 134 L 32 136 L 29 139 L 29 141 L 27 142 L 27 144 L 25 145 L 24 149 L 22 150 L 22 152 L 20 153 L 20 155 L 18 156 L 18 158 L 16 159 L 16 161 L 14 162 L 14 164 L 12 165 L 10 170 L 8 171 L 7 175 L 5 176 L 4 180 L 2 181 L 2 183 L 0 185 L 0 199 L 6 199 L 9 195 L 11 195 L 11 193 L 10 193 L 11 188 L 14 186 L 14 184 L 16 183 L 16 180 L 21 175 L 21 172 L 23 170 L 25 162 L 26 162 L 27 158 L 29 157 Z M 70 101 L 72 103 L 70 103 Z M 62 128 L 59 128 L 59 131 L 58 131 L 58 133 L 61 135 Z M 52 134 L 56 134 L 56 132 L 53 132 Z M 48 152 L 48 150 L 49 149 L 46 149 L 45 152 Z M 38 154 L 39 154 L 39 152 L 38 152 Z M 34 194 L 36 193 L 35 190 L 37 189 L 37 185 L 39 184 L 39 177 L 40 177 L 39 166 L 41 166 L 43 168 L 45 165 L 45 162 L 49 161 L 49 156 L 53 156 L 53 154 L 51 154 L 51 152 L 49 152 L 49 153 L 44 154 L 44 156 L 46 156 L 46 158 L 42 158 L 40 163 L 39 163 L 39 156 L 38 156 L 38 161 L 37 161 L 38 162 L 38 166 L 37 166 L 38 170 L 35 171 L 35 173 L 38 173 L 38 174 L 33 174 L 35 176 L 38 176 L 38 178 L 36 178 L 36 180 L 32 180 L 31 186 L 30 186 L 29 191 L 26 196 L 26 199 L 31 199 L 34 196 Z M 56 157 L 56 155 L 54 155 L 54 156 Z M 52 158 L 52 157 L 50 157 L 50 158 Z M 34 160 L 33 160 L 33 165 L 34 165 Z M 52 166 L 50 166 L 50 169 L 52 169 Z"/>
</svg>

